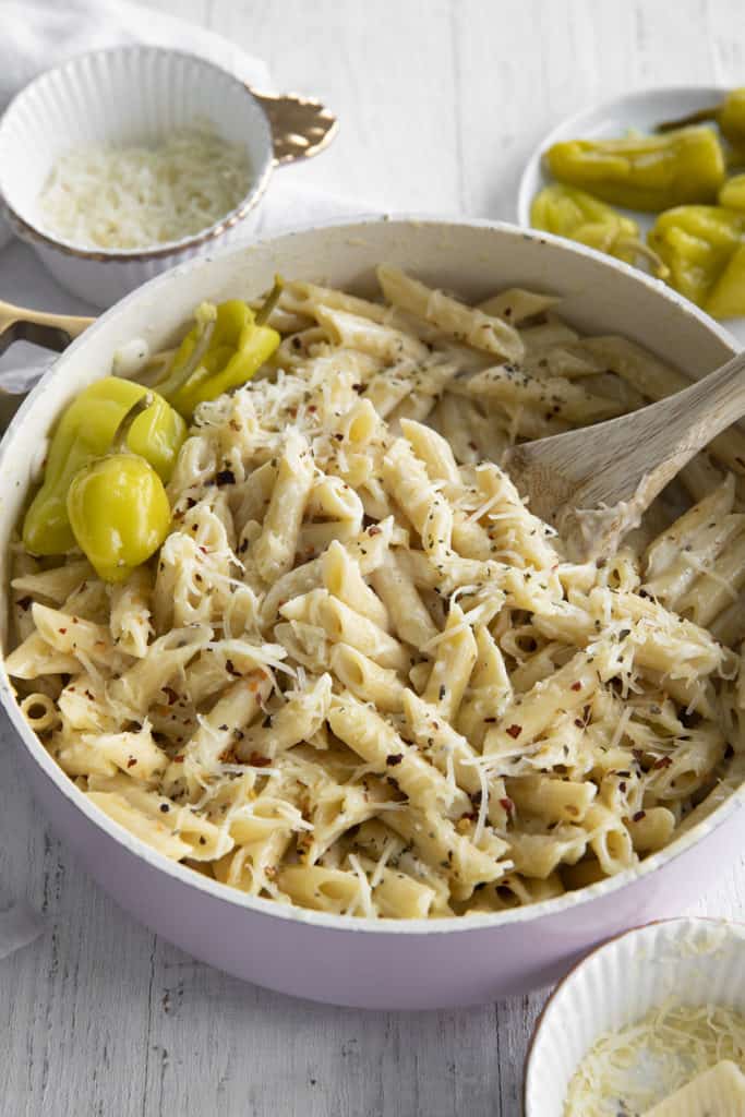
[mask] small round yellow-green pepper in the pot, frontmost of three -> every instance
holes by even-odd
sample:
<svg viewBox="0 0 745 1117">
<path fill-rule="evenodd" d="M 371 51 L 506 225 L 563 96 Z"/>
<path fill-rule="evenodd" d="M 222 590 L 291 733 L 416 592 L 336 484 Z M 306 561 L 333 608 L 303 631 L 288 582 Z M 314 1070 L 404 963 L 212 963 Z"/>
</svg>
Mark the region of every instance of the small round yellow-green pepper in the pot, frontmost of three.
<svg viewBox="0 0 745 1117">
<path fill-rule="evenodd" d="M 161 546 L 171 526 L 163 481 L 145 458 L 127 449 L 127 433 L 153 404 L 139 399 L 114 435 L 112 450 L 89 461 L 67 490 L 67 514 L 78 546 L 105 582 L 124 582 Z"/>
</svg>

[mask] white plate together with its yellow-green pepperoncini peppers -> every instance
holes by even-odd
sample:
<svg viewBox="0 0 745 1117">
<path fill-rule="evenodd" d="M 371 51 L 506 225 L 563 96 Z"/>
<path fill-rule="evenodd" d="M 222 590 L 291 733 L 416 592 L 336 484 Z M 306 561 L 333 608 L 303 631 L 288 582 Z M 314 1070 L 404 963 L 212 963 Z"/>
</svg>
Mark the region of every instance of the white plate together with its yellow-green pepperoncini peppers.
<svg viewBox="0 0 745 1117">
<path fill-rule="evenodd" d="M 657 275 L 745 344 L 745 90 L 643 89 L 569 117 L 528 160 L 517 219 Z"/>
</svg>

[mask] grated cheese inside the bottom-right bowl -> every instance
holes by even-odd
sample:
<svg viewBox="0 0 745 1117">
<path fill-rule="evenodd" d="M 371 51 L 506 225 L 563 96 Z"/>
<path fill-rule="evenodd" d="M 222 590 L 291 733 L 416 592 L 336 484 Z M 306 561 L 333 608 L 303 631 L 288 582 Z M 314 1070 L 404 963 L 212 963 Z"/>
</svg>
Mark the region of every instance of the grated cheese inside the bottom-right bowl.
<svg viewBox="0 0 745 1117">
<path fill-rule="evenodd" d="M 639 1117 L 723 1059 L 745 1063 L 745 1016 L 665 1001 L 600 1037 L 574 1072 L 564 1117 Z"/>
</svg>

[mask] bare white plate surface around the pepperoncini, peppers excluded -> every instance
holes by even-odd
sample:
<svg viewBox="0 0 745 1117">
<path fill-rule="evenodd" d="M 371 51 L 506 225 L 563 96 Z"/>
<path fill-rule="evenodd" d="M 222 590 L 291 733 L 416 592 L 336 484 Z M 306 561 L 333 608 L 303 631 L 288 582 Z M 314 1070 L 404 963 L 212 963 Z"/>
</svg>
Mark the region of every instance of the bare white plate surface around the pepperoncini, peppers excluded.
<svg viewBox="0 0 745 1117">
<path fill-rule="evenodd" d="M 720 86 L 676 86 L 661 89 L 639 89 L 602 105 L 584 108 L 557 124 L 541 141 L 528 159 L 517 192 L 517 221 L 531 225 L 531 202 L 545 185 L 553 180 L 544 173 L 542 155 L 552 144 L 562 140 L 609 140 L 622 136 L 629 128 L 652 132 L 662 121 L 678 120 L 699 108 L 716 105 L 727 93 Z M 655 221 L 652 213 L 628 210 L 629 217 L 638 222 L 642 235 Z M 745 345 L 745 318 L 729 318 L 726 323 L 735 337 Z"/>
</svg>

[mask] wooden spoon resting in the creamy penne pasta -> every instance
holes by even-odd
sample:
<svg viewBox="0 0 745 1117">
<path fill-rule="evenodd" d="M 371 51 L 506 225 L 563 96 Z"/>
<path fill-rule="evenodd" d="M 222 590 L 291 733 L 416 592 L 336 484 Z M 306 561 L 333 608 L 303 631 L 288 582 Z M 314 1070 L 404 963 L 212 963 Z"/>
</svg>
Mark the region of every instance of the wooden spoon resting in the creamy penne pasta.
<svg viewBox="0 0 745 1117">
<path fill-rule="evenodd" d="M 619 419 L 513 447 L 506 468 L 573 557 L 594 558 L 636 527 L 668 481 L 745 414 L 745 353 L 690 388 Z M 743 461 L 745 471 L 745 461 Z"/>
</svg>

